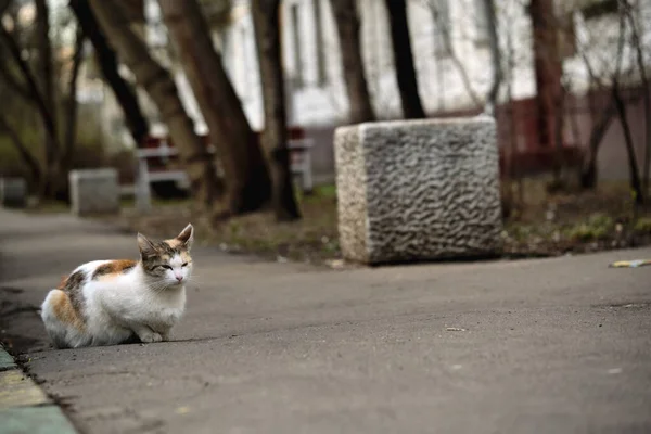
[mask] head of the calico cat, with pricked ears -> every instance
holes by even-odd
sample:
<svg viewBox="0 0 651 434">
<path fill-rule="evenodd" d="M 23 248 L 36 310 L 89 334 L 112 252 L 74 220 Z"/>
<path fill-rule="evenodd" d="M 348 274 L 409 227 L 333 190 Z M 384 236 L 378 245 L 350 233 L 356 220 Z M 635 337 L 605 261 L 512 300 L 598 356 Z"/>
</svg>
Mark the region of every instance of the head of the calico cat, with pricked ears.
<svg viewBox="0 0 651 434">
<path fill-rule="evenodd" d="M 159 242 L 138 234 L 138 247 L 144 272 L 161 282 L 174 286 L 186 284 L 192 273 L 190 248 L 194 241 L 194 228 L 188 225 L 176 238 Z"/>
</svg>

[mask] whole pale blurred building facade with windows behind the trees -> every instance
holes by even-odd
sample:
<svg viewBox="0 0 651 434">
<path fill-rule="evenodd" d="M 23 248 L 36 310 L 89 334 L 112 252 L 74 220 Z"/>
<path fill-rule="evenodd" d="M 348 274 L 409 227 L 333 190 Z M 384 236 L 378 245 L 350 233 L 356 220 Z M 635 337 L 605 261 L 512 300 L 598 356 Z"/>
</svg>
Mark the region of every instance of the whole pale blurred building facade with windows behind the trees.
<svg viewBox="0 0 651 434">
<path fill-rule="evenodd" d="M 427 114 L 436 116 L 480 110 L 493 77 L 483 0 L 408 0 L 407 4 L 419 91 Z M 536 94 L 527 4 L 528 1 L 523 0 L 496 1 L 505 77 L 499 92 L 501 102 L 523 101 Z M 332 132 L 346 122 L 348 102 L 330 1 L 284 0 L 281 8 L 288 118 L 315 138 L 316 173 L 331 175 Z M 357 0 L 357 8 L 366 76 L 375 113 L 383 119 L 399 118 L 401 110 L 384 1 Z M 608 87 L 614 77 L 618 47 L 617 0 L 564 0 L 557 1 L 556 8 L 554 15 L 560 17 L 559 43 L 565 90 L 580 98 L 596 84 Z M 641 29 L 638 37 L 644 64 L 651 65 L 651 2 L 639 1 L 637 8 L 635 17 Z M 145 0 L 145 16 L 148 42 L 159 60 L 174 71 L 183 104 L 195 120 L 197 131 L 205 132 L 205 123 L 182 68 L 166 54 L 169 41 L 156 0 Z M 216 33 L 214 39 L 253 128 L 261 129 L 261 89 L 248 0 L 233 0 L 230 24 Z M 621 81 L 635 85 L 639 77 L 635 74 L 637 63 L 630 40 L 628 31 L 620 67 Z M 118 115 L 113 105 L 106 111 L 108 117 Z M 587 112 L 586 107 L 582 110 Z M 576 131 L 570 131 L 570 123 L 565 124 L 567 140 L 576 141 Z M 589 136 L 591 124 L 585 118 L 577 119 L 577 124 L 582 133 Z M 165 127 L 155 124 L 152 132 L 165 133 Z M 616 142 L 617 135 L 609 133 L 607 140 Z M 613 171 L 613 177 L 623 176 L 625 168 Z"/>
</svg>

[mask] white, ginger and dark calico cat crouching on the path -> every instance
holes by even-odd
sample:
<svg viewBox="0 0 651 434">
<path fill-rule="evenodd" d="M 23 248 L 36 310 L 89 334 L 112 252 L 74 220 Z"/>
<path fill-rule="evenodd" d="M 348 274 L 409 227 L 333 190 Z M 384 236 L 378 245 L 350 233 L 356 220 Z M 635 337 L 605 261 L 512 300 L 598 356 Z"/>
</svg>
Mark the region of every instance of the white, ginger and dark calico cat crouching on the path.
<svg viewBox="0 0 651 434">
<path fill-rule="evenodd" d="M 41 306 L 54 346 L 169 340 L 186 308 L 193 235 L 192 225 L 161 242 L 139 233 L 140 260 L 93 260 L 77 267 Z"/>
</svg>

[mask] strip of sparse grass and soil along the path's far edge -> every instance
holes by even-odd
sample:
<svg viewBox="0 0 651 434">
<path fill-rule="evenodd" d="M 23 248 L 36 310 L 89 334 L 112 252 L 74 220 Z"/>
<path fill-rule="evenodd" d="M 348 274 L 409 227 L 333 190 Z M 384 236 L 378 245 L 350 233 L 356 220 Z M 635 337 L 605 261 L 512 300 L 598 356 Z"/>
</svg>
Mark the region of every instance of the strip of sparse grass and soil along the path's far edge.
<svg viewBox="0 0 651 434">
<path fill-rule="evenodd" d="M 544 181 L 527 180 L 526 206 L 502 232 L 507 257 L 557 256 L 651 244 L 651 213 L 633 218 L 626 186 L 608 184 L 597 192 L 547 194 Z M 273 260 L 323 263 L 341 258 L 335 186 L 297 193 L 303 219 L 277 222 L 272 213 L 238 216 L 214 226 L 191 202 L 156 201 L 153 213 L 123 212 L 130 231 L 167 238 L 191 221 L 197 242 L 233 253 L 253 253 Z"/>
</svg>

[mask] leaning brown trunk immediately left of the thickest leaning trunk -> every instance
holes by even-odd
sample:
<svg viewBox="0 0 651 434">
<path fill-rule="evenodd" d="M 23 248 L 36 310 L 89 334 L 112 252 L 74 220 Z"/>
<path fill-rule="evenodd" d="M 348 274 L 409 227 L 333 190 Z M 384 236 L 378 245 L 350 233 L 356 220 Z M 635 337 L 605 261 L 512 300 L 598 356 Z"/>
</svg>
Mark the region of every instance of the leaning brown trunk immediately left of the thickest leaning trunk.
<svg viewBox="0 0 651 434">
<path fill-rule="evenodd" d="M 90 0 L 90 5 L 104 35 L 158 106 L 196 197 L 206 206 L 210 205 L 218 186 L 217 176 L 203 141 L 194 132 L 171 75 L 150 55 L 145 43 L 131 30 L 116 4 Z"/>
</svg>

